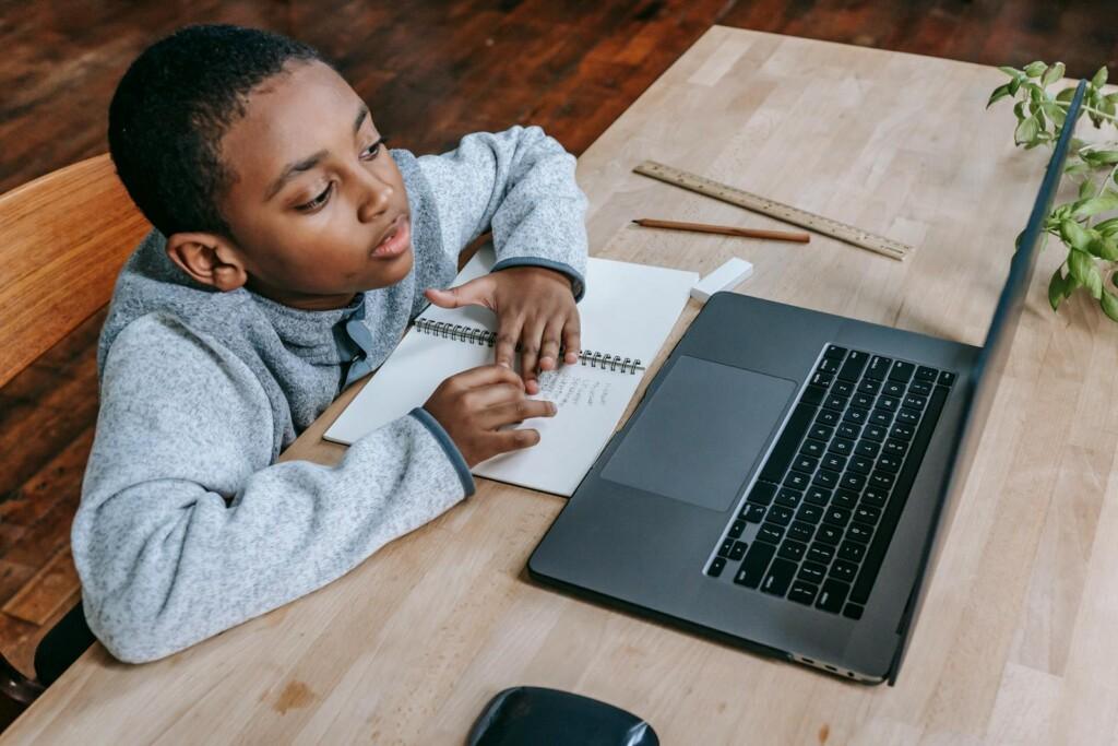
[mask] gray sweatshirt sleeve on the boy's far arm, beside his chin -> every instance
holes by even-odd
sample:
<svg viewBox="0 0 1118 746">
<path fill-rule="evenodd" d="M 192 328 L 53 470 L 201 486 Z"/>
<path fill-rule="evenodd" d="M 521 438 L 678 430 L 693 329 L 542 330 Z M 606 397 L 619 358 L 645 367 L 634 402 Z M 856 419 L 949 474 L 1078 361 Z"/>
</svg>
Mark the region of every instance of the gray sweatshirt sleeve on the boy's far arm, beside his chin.
<svg viewBox="0 0 1118 746">
<path fill-rule="evenodd" d="M 493 229 L 494 271 L 543 266 L 571 278 L 581 299 L 586 276 L 586 196 L 575 157 L 538 126 L 479 132 L 419 166 L 438 205 L 443 244 L 455 255 Z"/>
</svg>

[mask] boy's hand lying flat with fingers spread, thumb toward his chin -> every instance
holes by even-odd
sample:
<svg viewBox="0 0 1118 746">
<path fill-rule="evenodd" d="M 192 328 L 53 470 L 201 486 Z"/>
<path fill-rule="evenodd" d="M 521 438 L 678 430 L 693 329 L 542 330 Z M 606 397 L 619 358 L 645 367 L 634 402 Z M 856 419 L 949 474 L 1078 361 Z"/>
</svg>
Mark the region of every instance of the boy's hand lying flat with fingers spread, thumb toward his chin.
<svg viewBox="0 0 1118 746">
<path fill-rule="evenodd" d="M 427 300 L 444 309 L 483 305 L 496 313 L 496 363 L 512 367 L 520 344 L 521 376 L 529 394 L 540 390 L 538 370 L 578 362 L 578 306 L 567 275 L 544 267 L 509 267 L 447 290 L 429 289 Z M 537 368 L 538 366 L 538 368 Z"/>
</svg>

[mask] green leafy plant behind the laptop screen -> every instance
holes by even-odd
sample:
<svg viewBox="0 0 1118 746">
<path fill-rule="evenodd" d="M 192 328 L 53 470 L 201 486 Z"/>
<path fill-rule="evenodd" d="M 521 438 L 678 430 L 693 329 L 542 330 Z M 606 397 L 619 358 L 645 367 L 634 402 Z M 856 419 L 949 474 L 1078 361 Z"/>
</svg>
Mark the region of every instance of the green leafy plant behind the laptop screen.
<svg viewBox="0 0 1118 746">
<path fill-rule="evenodd" d="M 1063 63 L 1035 62 L 1024 69 L 998 69 L 1010 76 L 1010 82 L 994 89 L 986 107 L 1002 98 L 1018 100 L 1013 106 L 1017 117 L 1013 141 L 1025 150 L 1041 144 L 1051 147 L 1063 131 L 1076 93 L 1074 86 L 1064 87 L 1054 95 L 1049 92 L 1063 78 Z M 1115 114 L 1118 93 L 1105 93 L 1106 83 L 1107 68 L 1102 67 L 1088 82 L 1083 112 L 1096 129 L 1103 125 L 1118 129 Z M 1049 282 L 1049 302 L 1055 311 L 1061 301 L 1083 287 L 1099 302 L 1103 313 L 1118 321 L 1118 285 L 1115 284 L 1118 278 L 1118 217 L 1105 219 L 1107 213 L 1118 209 L 1118 140 L 1087 143 L 1073 138 L 1064 171 L 1079 180 L 1079 197 L 1053 207 L 1044 220 L 1045 242 L 1052 235 L 1068 248 L 1068 257 Z"/>
</svg>

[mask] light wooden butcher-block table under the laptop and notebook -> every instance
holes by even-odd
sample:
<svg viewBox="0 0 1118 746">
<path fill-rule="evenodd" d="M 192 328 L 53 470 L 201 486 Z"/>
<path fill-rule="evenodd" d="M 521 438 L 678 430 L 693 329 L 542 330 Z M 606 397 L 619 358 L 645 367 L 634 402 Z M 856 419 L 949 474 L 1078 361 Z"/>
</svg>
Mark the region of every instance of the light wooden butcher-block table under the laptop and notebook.
<svg viewBox="0 0 1118 746">
<path fill-rule="evenodd" d="M 1002 79 L 714 27 L 580 159 L 591 251 L 701 273 L 739 255 L 756 266 L 745 292 L 980 343 L 1048 157 L 1014 150 L 1008 106 L 984 110 Z M 632 173 L 646 158 L 917 252 L 629 226 L 781 227 Z M 1048 308 L 1060 251 L 1041 258 L 896 688 L 538 587 L 524 565 L 562 500 L 480 480 L 340 580 L 184 653 L 131 667 L 95 645 L 6 739 L 455 744 L 499 690 L 538 684 L 642 715 L 665 744 L 1114 742 L 1118 346 L 1091 303 Z M 341 405 L 286 457 L 337 461 L 320 434 Z"/>
</svg>

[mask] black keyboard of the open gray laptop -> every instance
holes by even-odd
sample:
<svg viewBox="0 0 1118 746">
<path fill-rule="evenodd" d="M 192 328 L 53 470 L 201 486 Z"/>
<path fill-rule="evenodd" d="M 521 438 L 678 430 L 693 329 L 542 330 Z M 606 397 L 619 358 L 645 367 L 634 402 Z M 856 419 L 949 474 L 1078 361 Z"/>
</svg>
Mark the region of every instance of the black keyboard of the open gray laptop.
<svg viewBox="0 0 1118 746">
<path fill-rule="evenodd" d="M 861 618 L 954 383 L 827 346 L 707 574 Z"/>
</svg>

